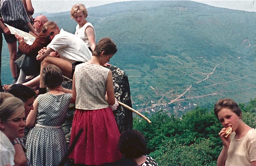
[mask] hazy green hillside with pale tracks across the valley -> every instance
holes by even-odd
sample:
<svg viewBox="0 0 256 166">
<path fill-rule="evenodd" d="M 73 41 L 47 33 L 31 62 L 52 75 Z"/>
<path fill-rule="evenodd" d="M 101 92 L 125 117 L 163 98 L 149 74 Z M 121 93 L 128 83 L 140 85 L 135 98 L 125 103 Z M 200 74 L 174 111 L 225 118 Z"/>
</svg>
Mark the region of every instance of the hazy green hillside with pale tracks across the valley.
<svg viewBox="0 0 256 166">
<path fill-rule="evenodd" d="M 74 33 L 69 14 L 45 15 Z M 255 12 L 173 0 L 106 4 L 88 15 L 97 41 L 111 37 L 118 46 L 110 63 L 128 75 L 135 109 L 255 98 Z"/>
</svg>

